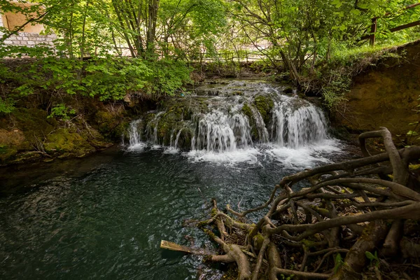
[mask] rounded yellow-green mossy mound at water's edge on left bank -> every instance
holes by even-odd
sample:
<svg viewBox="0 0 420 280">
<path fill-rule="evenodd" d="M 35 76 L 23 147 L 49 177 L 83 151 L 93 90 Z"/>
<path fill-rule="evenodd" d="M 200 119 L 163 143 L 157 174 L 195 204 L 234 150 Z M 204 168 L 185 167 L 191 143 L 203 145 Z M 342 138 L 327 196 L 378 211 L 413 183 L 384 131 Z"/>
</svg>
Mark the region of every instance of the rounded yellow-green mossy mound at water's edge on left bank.
<svg viewBox="0 0 420 280">
<path fill-rule="evenodd" d="M 44 148 L 48 154 L 58 153 L 60 157 L 82 157 L 96 151 L 87 139 L 81 137 L 78 133 L 71 133 L 64 128 L 60 128 L 52 132 L 52 134 L 49 134 Z"/>
</svg>

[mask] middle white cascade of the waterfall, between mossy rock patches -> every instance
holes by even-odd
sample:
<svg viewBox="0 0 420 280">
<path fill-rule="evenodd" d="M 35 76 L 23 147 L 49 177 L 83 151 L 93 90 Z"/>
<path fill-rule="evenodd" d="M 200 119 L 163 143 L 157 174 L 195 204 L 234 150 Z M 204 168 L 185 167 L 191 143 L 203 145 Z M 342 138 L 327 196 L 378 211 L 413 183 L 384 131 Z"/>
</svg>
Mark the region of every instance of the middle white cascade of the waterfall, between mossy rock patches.
<svg viewBox="0 0 420 280">
<path fill-rule="evenodd" d="M 241 113 L 229 115 L 215 110 L 195 118 L 198 125 L 191 144 L 193 150 L 236 151 L 252 144 L 248 118 Z"/>
</svg>

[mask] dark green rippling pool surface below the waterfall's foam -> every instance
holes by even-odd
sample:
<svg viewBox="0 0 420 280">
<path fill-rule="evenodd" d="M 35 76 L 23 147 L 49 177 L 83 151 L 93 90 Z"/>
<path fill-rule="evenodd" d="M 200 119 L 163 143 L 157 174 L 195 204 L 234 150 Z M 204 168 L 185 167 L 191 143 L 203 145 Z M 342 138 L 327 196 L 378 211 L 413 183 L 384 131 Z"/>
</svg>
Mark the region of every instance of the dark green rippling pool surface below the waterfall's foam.
<svg viewBox="0 0 420 280">
<path fill-rule="evenodd" d="M 183 221 L 204 218 L 212 197 L 255 207 L 295 171 L 254 156 L 225 165 L 146 148 L 14 169 L 14 179 L 2 169 L 0 279 L 196 279 L 200 257 L 163 252 L 160 240 L 212 246 Z"/>
</svg>

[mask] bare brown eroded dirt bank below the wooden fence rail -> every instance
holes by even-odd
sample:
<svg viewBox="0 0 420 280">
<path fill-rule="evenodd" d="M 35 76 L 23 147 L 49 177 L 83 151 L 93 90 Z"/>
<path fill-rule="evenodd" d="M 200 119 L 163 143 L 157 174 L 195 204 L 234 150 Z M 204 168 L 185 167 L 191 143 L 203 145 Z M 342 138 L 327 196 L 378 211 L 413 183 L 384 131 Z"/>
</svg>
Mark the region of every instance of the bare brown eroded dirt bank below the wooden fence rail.
<svg viewBox="0 0 420 280">
<path fill-rule="evenodd" d="M 416 127 L 409 124 L 420 119 L 420 41 L 397 52 L 402 58 L 384 59 L 354 78 L 345 106 L 335 113 L 335 125 L 355 133 L 388 127 L 401 144 L 416 140 L 407 132 Z"/>
</svg>

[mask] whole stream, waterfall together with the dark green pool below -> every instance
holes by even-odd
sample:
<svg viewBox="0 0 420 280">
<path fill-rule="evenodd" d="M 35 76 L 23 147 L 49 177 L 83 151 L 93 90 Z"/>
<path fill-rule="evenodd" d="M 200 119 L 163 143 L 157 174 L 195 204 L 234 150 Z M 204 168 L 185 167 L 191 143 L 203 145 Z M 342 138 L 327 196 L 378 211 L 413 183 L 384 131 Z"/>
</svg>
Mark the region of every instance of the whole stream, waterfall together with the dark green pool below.
<svg viewBox="0 0 420 280">
<path fill-rule="evenodd" d="M 212 248 L 183 226 L 207 218 L 211 198 L 258 206 L 283 176 L 332 162 L 345 148 L 316 106 L 268 83 L 243 83 L 204 90 L 205 109 L 174 122 L 169 137 L 159 135 L 163 108 L 134 120 L 124 146 L 0 169 L 0 279 L 198 279 L 198 271 L 221 279 L 224 267 L 164 251 L 160 241 Z M 238 84 L 241 94 L 230 94 Z M 198 92 L 190 98 L 202 100 Z M 267 116 L 253 107 L 255 92 L 272 97 Z"/>
</svg>

